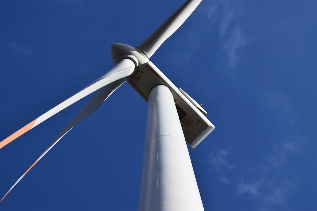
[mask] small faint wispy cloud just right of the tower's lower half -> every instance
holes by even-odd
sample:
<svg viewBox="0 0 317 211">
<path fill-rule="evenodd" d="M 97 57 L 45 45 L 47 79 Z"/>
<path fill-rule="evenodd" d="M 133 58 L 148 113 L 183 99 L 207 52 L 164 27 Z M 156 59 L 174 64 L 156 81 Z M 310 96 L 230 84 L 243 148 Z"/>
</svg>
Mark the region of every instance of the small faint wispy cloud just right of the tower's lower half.
<svg viewBox="0 0 317 211">
<path fill-rule="evenodd" d="M 229 151 L 219 150 L 211 152 L 208 157 L 208 162 L 215 168 L 219 181 L 223 183 L 231 182 L 227 177 L 227 171 L 235 166 L 234 164 L 229 164 L 227 158 L 229 155 Z"/>
</svg>

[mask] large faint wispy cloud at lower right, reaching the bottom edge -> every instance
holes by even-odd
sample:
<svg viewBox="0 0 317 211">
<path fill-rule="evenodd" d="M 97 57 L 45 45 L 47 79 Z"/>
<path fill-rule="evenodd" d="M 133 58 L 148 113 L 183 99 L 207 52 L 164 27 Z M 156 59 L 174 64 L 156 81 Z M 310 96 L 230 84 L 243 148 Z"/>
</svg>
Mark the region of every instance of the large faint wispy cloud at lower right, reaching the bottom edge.
<svg viewBox="0 0 317 211">
<path fill-rule="evenodd" d="M 239 195 L 249 195 L 258 210 L 287 210 L 288 196 L 296 181 L 288 169 L 289 158 L 300 149 L 304 137 L 288 137 L 283 143 L 273 147 L 252 172 L 244 175 L 237 184 Z M 249 178 L 249 179 L 246 179 Z M 252 179 L 250 179 L 252 178 Z"/>
</svg>

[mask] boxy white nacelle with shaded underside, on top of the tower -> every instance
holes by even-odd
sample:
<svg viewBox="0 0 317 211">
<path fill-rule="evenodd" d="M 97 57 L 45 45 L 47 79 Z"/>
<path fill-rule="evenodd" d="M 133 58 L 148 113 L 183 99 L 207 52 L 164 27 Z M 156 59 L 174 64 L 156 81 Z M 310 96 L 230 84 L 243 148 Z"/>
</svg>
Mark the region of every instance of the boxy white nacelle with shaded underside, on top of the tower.
<svg viewBox="0 0 317 211">
<path fill-rule="evenodd" d="M 190 96 L 185 96 L 151 61 L 147 62 L 137 73 L 128 81 L 140 96 L 148 101 L 152 87 L 162 84 L 167 86 L 174 97 L 174 104 L 177 104 L 187 115 L 180 115 L 181 125 L 185 140 L 192 148 L 195 148 L 204 138 L 211 133 L 215 126 L 207 119 L 205 113 L 197 102 L 191 102 Z M 192 98 L 191 98 L 192 99 Z M 182 112 L 183 113 L 183 112 Z M 191 118 L 191 124 L 186 123 L 186 118 Z"/>
</svg>

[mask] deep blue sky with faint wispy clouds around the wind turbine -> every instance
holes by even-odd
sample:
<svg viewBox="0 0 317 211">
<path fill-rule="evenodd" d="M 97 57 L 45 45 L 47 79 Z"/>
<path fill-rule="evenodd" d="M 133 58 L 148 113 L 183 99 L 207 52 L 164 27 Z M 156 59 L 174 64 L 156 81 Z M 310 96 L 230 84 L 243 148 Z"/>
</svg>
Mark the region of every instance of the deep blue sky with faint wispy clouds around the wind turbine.
<svg viewBox="0 0 317 211">
<path fill-rule="evenodd" d="M 184 1 L 2 1 L 0 139 L 138 46 Z M 316 210 L 315 1 L 204 0 L 151 61 L 216 129 L 189 148 L 206 211 Z M 89 100 L 0 152 L 0 195 Z M 136 210 L 147 103 L 124 84 L 72 129 L 1 210 Z"/>
</svg>

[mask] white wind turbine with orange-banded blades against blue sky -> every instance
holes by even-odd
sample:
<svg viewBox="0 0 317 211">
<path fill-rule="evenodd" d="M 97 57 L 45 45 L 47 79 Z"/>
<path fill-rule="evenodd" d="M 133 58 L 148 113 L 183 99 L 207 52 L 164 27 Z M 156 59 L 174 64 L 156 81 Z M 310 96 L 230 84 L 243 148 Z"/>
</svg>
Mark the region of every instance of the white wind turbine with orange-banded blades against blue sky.
<svg viewBox="0 0 317 211">
<path fill-rule="evenodd" d="M 138 47 L 113 44 L 111 55 L 115 66 L 110 71 L 1 141 L 0 148 L 62 109 L 98 90 L 10 190 L 69 130 L 128 81 L 148 102 L 139 210 L 203 210 L 185 143 L 195 148 L 214 129 L 214 126 L 204 116 L 207 112 L 202 106 L 183 90 L 176 88 L 149 60 L 200 2 L 201 0 L 187 0 Z"/>
</svg>

